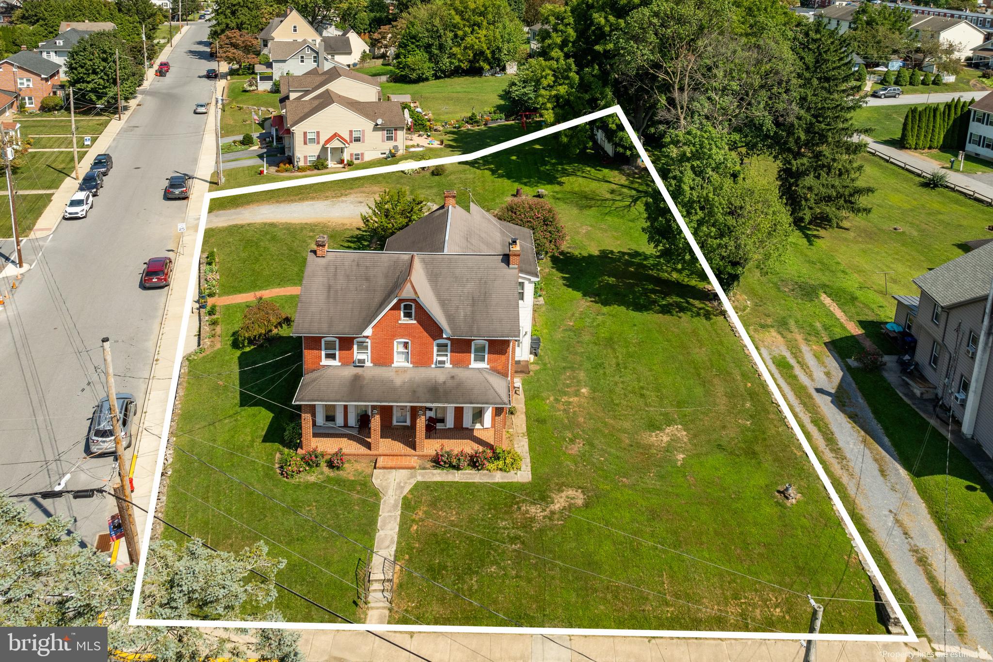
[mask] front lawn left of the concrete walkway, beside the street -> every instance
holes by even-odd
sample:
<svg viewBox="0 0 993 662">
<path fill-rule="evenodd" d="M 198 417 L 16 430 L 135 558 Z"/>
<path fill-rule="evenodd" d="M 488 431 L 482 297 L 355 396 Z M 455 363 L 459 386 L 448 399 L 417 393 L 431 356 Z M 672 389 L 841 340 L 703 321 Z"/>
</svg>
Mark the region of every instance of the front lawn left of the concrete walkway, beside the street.
<svg viewBox="0 0 993 662">
<path fill-rule="evenodd" d="M 223 269 L 225 263 L 221 261 L 220 265 Z M 296 299 L 279 297 L 274 301 L 292 314 L 296 310 Z M 294 417 L 286 409 L 237 388 L 276 402 L 290 402 L 300 374 L 300 340 L 289 337 L 289 329 L 285 329 L 280 338 L 268 345 L 233 349 L 230 332 L 239 324 L 247 306 L 221 307 L 220 346 L 190 361 L 183 395 L 185 404 L 177 422 L 176 445 L 371 546 L 378 515 L 378 492 L 369 480 L 371 463 L 352 463 L 347 470 L 324 478 L 335 487 L 375 499 L 371 502 L 322 484 L 313 476 L 309 480 L 289 481 L 277 474 L 274 463 L 277 451 L 282 449 L 283 427 L 290 420 L 299 421 L 299 416 Z M 287 353 L 291 355 L 267 363 L 265 368 L 244 369 Z M 200 373 L 224 374 L 204 378 Z M 182 452 L 175 453 L 171 469 L 165 487 L 168 500 L 164 517 L 167 521 L 226 550 L 241 550 L 263 540 L 269 546 L 270 556 L 287 561 L 277 576 L 280 582 L 353 620 L 361 619 L 354 604 L 355 589 L 350 589 L 347 582 L 355 585 L 356 564 L 359 560 L 364 561 L 364 550 Z M 276 542 L 264 540 L 248 527 Z M 163 537 L 185 540 L 171 529 L 166 529 Z M 313 565 L 279 545 L 285 545 Z M 345 581 L 336 580 L 329 573 Z M 325 621 L 331 618 L 339 622 L 286 593 L 280 593 L 275 606 L 287 619 Z"/>
</svg>

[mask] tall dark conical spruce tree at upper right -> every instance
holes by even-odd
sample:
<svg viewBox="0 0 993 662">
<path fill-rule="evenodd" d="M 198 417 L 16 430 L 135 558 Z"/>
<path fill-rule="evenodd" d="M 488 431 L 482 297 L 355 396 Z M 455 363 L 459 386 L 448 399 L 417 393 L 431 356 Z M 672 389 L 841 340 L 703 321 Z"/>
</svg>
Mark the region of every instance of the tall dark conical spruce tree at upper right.
<svg viewBox="0 0 993 662">
<path fill-rule="evenodd" d="M 781 127 L 778 144 L 780 193 L 793 224 L 836 227 L 847 214 L 866 213 L 858 156 L 865 143 L 852 140 L 862 105 L 852 79 L 848 40 L 823 21 L 803 22 L 791 44 L 797 66 L 795 112 Z"/>
</svg>

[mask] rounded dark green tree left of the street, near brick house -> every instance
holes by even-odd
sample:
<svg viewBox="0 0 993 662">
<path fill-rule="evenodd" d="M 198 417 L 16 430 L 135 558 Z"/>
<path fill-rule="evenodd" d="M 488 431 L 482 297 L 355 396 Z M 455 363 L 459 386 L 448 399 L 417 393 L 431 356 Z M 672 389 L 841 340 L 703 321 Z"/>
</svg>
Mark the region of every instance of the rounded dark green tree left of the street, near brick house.
<svg viewBox="0 0 993 662">
<path fill-rule="evenodd" d="M 117 103 L 117 66 L 119 56 L 120 97 L 134 96 L 145 77 L 141 61 L 135 61 L 127 42 L 112 32 L 94 32 L 72 47 L 66 58 L 66 77 L 75 93 L 86 95 L 87 102 L 105 106 Z"/>
</svg>

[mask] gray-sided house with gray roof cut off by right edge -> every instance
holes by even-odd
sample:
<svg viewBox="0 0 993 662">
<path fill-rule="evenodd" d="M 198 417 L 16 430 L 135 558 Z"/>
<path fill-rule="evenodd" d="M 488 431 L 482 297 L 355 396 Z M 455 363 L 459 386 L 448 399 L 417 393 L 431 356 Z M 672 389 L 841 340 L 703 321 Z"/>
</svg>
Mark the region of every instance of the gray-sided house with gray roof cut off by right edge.
<svg viewBox="0 0 993 662">
<path fill-rule="evenodd" d="M 951 408 L 963 434 L 971 428 L 993 457 L 993 334 L 983 335 L 990 323 L 993 242 L 931 269 L 914 284 L 921 295 L 895 297 L 894 321 L 917 337 L 915 359 L 934 396 Z"/>
</svg>

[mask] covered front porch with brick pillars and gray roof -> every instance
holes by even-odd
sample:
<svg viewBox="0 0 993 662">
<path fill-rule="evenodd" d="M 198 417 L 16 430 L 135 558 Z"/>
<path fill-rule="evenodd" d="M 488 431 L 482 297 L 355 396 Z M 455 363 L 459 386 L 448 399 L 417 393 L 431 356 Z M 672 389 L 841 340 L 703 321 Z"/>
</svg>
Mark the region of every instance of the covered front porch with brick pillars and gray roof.
<svg viewBox="0 0 993 662">
<path fill-rule="evenodd" d="M 294 398 L 303 451 L 371 457 L 506 446 L 509 403 L 505 377 L 460 367 L 329 365 L 305 375 Z"/>
</svg>

